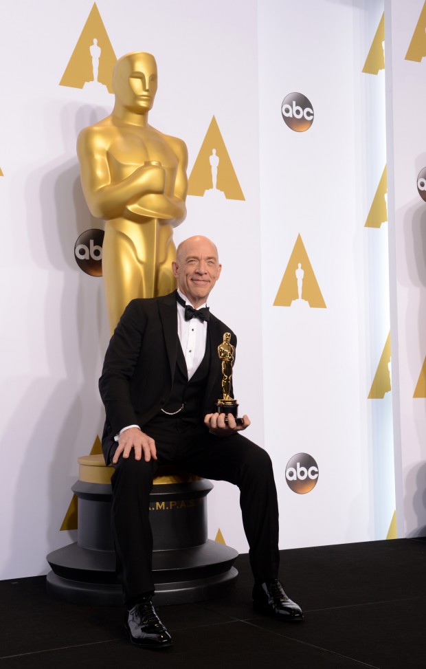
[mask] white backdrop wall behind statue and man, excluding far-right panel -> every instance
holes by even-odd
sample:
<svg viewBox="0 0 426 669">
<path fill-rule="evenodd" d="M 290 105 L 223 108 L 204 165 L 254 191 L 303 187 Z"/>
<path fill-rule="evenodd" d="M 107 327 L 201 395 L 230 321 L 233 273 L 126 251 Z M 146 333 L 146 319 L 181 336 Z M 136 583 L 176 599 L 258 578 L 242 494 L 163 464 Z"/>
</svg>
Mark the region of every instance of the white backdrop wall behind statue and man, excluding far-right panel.
<svg viewBox="0 0 426 669">
<path fill-rule="evenodd" d="M 102 430 L 102 280 L 74 257 L 78 236 L 102 223 L 82 196 L 75 147 L 80 129 L 111 113 L 113 96 L 59 85 L 92 8 L 9 3 L 0 26 L 0 578 L 45 573 L 45 555 L 76 539 L 60 526 L 77 457 Z M 273 458 L 280 547 L 385 538 L 392 398 L 368 393 L 389 332 L 388 223 L 365 228 L 386 162 L 384 73 L 362 72 L 383 0 L 97 8 L 117 57 L 155 54 L 150 123 L 186 141 L 188 175 L 214 116 L 243 190 L 245 199 L 188 195 L 175 241 L 201 232 L 218 243 L 211 308 L 238 334 L 235 392 L 252 419 L 248 436 Z M 313 105 L 304 133 L 281 116 L 293 91 Z M 273 306 L 299 234 L 325 307 Z M 320 471 L 308 494 L 286 482 L 299 452 Z M 247 551 L 238 491 L 216 483 L 208 509 L 210 538 L 220 529 Z"/>
</svg>

